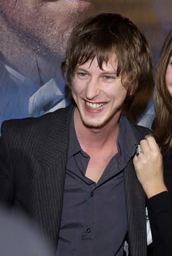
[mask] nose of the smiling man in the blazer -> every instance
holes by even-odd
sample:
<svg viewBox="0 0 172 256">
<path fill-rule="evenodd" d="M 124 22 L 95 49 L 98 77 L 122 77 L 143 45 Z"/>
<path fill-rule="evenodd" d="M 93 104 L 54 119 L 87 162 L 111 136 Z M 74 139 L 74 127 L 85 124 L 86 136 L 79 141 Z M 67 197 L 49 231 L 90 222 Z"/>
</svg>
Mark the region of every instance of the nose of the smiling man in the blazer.
<svg viewBox="0 0 172 256">
<path fill-rule="evenodd" d="M 87 83 L 87 86 L 85 88 L 85 96 L 87 99 L 91 100 L 96 98 L 100 93 L 100 86 L 97 79 L 90 79 Z"/>
</svg>

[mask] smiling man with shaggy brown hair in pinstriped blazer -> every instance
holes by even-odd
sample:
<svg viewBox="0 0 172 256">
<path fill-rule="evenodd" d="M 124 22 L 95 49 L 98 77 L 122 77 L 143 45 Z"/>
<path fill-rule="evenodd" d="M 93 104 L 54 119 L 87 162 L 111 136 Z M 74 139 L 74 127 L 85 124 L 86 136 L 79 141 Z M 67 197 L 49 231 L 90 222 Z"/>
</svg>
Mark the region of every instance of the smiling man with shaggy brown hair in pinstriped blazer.
<svg viewBox="0 0 172 256">
<path fill-rule="evenodd" d="M 69 37 L 62 74 L 73 105 L 2 125 L 1 200 L 20 207 L 49 237 L 55 255 L 147 254 L 145 196 L 136 145 L 149 132 L 123 116 L 151 72 L 147 40 L 105 13 Z"/>
</svg>

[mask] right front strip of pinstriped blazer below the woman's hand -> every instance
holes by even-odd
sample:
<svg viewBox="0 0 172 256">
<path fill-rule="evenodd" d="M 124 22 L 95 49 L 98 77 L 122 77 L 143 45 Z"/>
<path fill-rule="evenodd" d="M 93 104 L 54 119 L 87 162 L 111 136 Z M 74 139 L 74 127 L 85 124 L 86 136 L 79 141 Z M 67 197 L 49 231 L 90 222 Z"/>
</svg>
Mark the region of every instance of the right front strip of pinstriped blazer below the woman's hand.
<svg viewBox="0 0 172 256">
<path fill-rule="evenodd" d="M 147 255 L 145 195 L 134 171 L 133 159 L 125 170 L 125 197 L 128 220 L 129 252 L 132 256 Z"/>
</svg>

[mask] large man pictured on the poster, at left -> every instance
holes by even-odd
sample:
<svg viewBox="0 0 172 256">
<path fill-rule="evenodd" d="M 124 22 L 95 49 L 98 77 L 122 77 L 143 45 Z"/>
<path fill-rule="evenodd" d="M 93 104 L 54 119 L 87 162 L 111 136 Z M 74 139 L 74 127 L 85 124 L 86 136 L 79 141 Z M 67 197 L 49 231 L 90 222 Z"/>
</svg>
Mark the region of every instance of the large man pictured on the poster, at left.
<svg viewBox="0 0 172 256">
<path fill-rule="evenodd" d="M 0 0 L 0 126 L 68 104 L 61 61 L 71 29 L 91 6 L 90 1 Z"/>
</svg>

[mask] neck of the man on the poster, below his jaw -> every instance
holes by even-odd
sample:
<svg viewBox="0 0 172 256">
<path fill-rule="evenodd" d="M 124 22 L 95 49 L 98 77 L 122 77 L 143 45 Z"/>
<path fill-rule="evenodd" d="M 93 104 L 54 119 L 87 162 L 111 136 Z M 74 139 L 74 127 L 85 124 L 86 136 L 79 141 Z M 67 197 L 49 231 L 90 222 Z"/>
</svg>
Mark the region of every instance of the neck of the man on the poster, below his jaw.
<svg viewBox="0 0 172 256">
<path fill-rule="evenodd" d="M 40 85 L 52 77 L 57 83 L 62 83 L 61 57 L 48 56 L 41 48 L 38 52 L 33 51 L 30 45 L 22 42 L 1 16 L 0 29 L 0 52 L 4 64 Z"/>
</svg>

